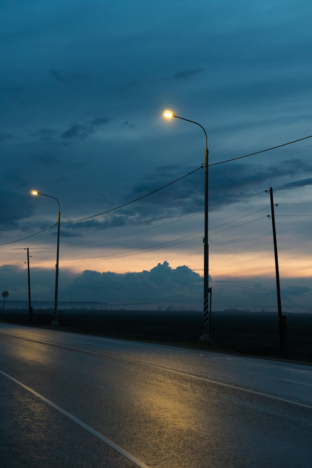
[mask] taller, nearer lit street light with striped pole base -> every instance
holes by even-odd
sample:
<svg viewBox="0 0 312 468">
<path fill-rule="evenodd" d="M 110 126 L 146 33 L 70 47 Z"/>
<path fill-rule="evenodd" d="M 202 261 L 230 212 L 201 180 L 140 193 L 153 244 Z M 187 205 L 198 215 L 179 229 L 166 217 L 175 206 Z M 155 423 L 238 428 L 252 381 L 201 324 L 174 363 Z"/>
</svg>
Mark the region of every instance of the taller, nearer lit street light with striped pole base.
<svg viewBox="0 0 312 468">
<path fill-rule="evenodd" d="M 189 120 L 187 118 L 178 117 L 171 110 L 164 111 L 164 117 L 171 118 L 176 117 L 181 120 L 186 120 L 192 124 L 199 125 L 205 132 L 206 137 L 206 149 L 205 149 L 205 220 L 204 220 L 204 238 L 203 238 L 203 335 L 200 337 L 200 341 L 208 341 L 209 339 L 209 311 L 211 311 L 211 288 L 209 287 L 209 255 L 208 255 L 208 149 L 207 149 L 207 133 L 201 124 Z M 210 293 L 210 301 L 209 301 Z"/>
</svg>

